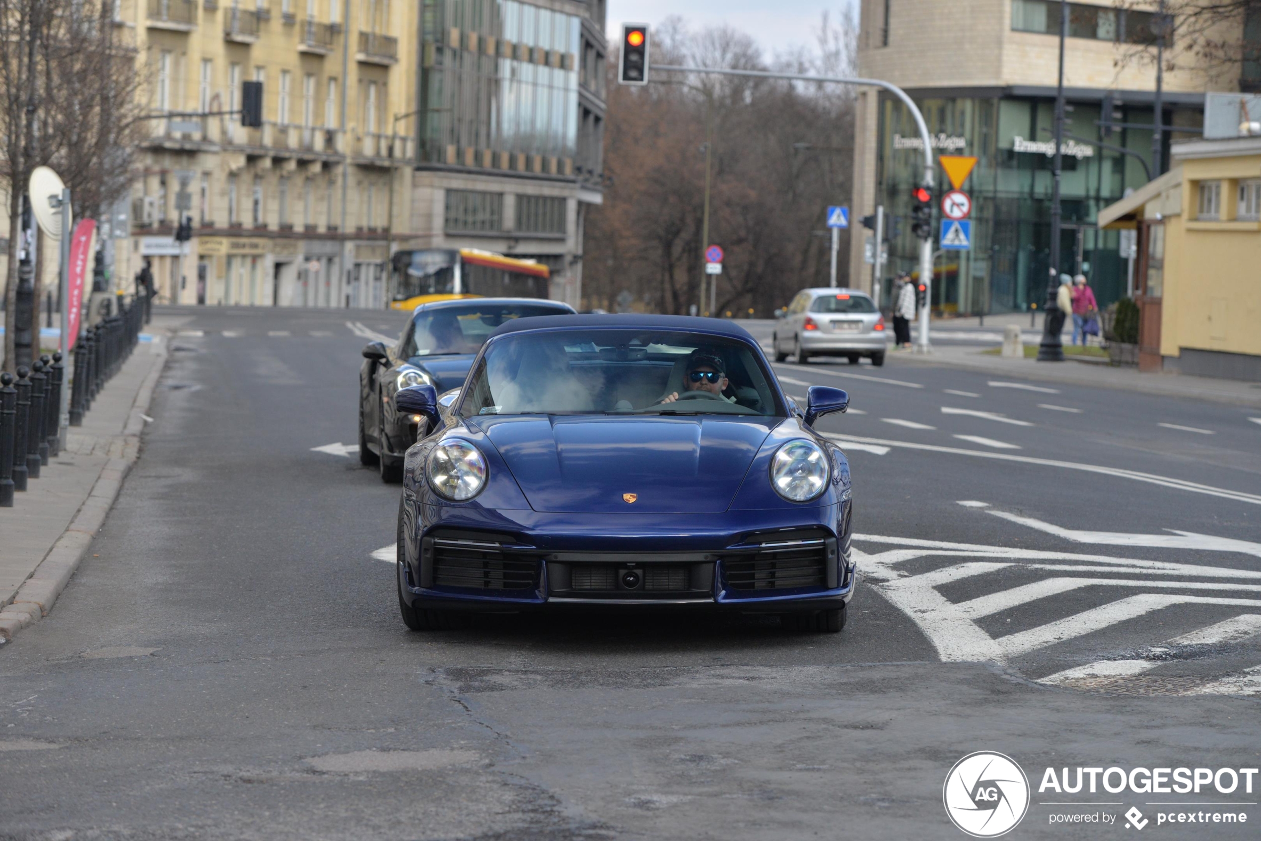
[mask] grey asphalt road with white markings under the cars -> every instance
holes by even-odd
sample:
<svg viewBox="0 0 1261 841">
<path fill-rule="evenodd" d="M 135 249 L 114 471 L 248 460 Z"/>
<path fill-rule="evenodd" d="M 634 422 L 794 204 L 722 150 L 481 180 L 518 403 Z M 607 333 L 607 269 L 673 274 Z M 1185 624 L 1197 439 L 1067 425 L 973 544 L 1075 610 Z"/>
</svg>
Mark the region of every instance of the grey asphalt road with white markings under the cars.
<svg viewBox="0 0 1261 841">
<path fill-rule="evenodd" d="M 52 615 L 0 648 L 0 838 L 961 838 L 942 783 L 976 750 L 1034 786 L 1010 837 L 1125 833 L 1052 816 L 1153 799 L 1261 821 L 1255 789 L 1037 791 L 1048 767 L 1261 763 L 1256 411 L 904 354 L 776 366 L 851 395 L 820 426 L 854 473 L 844 633 L 412 634 L 373 556 L 398 488 L 328 446 L 397 318 L 168 311 L 141 459 Z"/>
</svg>

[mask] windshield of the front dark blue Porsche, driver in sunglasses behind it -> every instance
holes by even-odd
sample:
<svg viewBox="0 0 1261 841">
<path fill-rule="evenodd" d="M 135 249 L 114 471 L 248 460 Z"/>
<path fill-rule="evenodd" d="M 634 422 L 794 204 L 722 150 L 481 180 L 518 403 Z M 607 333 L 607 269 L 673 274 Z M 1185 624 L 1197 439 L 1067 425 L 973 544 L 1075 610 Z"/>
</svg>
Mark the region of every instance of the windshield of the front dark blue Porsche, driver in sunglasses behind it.
<svg viewBox="0 0 1261 841">
<path fill-rule="evenodd" d="M 509 334 L 487 351 L 460 406 L 477 415 L 782 415 L 743 342 L 593 329 Z"/>
</svg>

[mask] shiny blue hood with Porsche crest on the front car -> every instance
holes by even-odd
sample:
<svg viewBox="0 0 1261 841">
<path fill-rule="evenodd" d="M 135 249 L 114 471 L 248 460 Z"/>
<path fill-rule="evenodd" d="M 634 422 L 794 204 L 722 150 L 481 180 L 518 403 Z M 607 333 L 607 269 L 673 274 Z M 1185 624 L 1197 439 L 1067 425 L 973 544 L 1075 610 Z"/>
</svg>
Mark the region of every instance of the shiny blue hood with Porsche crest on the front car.
<svg viewBox="0 0 1261 841">
<path fill-rule="evenodd" d="M 718 513 L 779 420 L 509 416 L 470 425 L 494 444 L 535 511 Z"/>
</svg>

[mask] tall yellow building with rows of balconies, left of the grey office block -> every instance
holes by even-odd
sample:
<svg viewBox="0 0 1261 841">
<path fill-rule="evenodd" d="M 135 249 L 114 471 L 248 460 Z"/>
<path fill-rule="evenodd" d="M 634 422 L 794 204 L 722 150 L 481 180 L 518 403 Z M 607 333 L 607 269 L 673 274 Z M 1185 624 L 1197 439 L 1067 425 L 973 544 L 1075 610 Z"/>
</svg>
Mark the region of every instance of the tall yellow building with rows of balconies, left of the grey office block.
<svg viewBox="0 0 1261 841">
<path fill-rule="evenodd" d="M 164 303 L 385 305 L 388 231 L 409 228 L 416 57 L 400 34 L 416 14 L 390 0 L 120 0 L 159 117 L 120 280 L 148 258 Z M 264 83 L 261 127 L 228 113 L 245 81 Z M 202 113 L 216 116 L 182 116 Z"/>
</svg>

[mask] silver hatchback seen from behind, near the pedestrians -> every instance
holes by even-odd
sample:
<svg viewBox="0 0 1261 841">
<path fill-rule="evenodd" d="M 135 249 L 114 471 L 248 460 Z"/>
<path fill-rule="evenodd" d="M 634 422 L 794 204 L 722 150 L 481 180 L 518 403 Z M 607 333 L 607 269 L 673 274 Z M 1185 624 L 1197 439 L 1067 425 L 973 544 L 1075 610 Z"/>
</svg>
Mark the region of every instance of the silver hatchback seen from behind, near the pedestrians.
<svg viewBox="0 0 1261 841">
<path fill-rule="evenodd" d="M 776 362 L 839 356 L 850 364 L 866 357 L 881 366 L 886 342 L 884 316 L 866 293 L 826 286 L 797 293 L 770 337 Z"/>
</svg>

